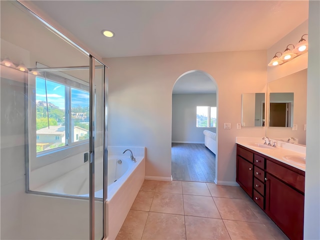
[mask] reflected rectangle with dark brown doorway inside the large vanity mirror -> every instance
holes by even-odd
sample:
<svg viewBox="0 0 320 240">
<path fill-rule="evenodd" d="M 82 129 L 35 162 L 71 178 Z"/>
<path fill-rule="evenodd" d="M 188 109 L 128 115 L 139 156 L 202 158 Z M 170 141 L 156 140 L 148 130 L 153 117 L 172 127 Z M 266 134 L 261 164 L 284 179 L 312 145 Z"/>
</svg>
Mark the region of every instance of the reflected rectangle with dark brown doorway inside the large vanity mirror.
<svg viewBox="0 0 320 240">
<path fill-rule="evenodd" d="M 293 126 L 293 92 L 270 92 L 269 126 Z"/>
</svg>

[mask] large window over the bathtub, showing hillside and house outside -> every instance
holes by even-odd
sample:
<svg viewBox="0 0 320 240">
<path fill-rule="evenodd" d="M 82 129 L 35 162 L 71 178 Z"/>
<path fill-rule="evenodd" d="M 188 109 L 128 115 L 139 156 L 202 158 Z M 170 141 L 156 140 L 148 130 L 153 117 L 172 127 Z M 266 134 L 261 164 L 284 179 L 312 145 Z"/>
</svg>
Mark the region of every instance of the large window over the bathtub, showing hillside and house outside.
<svg viewBox="0 0 320 240">
<path fill-rule="evenodd" d="M 89 138 L 88 86 L 72 84 L 73 81 L 62 77 L 48 78 L 35 78 L 36 152 L 77 144 Z M 83 135 L 78 137 L 79 133 Z"/>
</svg>

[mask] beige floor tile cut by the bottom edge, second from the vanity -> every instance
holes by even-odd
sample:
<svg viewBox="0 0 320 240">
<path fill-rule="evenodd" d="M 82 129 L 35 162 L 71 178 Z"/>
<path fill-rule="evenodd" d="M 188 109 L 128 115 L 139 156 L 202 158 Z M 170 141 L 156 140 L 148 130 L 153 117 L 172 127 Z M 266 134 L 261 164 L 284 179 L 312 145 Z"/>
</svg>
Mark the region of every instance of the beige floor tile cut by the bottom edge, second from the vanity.
<svg viewBox="0 0 320 240">
<path fill-rule="evenodd" d="M 223 220 L 231 239 L 265 239 L 271 240 L 274 237 L 263 223 Z"/>
</svg>

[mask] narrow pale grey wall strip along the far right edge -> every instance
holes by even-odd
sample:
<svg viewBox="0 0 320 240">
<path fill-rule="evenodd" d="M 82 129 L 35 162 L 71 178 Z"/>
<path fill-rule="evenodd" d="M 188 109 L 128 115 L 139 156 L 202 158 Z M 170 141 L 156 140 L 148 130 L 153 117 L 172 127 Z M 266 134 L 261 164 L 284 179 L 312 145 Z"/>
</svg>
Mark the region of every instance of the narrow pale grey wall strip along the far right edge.
<svg viewBox="0 0 320 240">
<path fill-rule="evenodd" d="M 320 239 L 320 1 L 309 1 L 304 239 Z"/>
</svg>

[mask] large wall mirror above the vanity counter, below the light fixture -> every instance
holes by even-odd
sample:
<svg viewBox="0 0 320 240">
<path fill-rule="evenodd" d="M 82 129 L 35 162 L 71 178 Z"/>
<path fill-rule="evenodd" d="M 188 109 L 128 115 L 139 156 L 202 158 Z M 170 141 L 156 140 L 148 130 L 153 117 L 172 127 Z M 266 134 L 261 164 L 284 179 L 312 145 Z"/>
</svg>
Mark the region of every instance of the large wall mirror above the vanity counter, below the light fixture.
<svg viewBox="0 0 320 240">
<path fill-rule="evenodd" d="M 267 104 L 266 112 L 270 112 L 271 102 L 285 101 L 293 102 L 293 106 L 290 106 L 290 120 L 286 127 L 272 126 L 274 123 L 269 121 L 272 114 L 274 116 L 277 113 L 271 110 L 270 117 L 266 117 L 267 124 L 265 134 L 268 137 L 287 140 L 289 137 L 297 139 L 295 142 L 305 145 L 305 124 L 306 124 L 306 81 L 307 81 L 307 69 L 303 69 L 294 72 L 290 75 L 281 77 L 267 84 Z M 290 98 L 288 98 L 290 97 Z M 293 98 L 293 99 L 292 99 Z M 289 100 L 290 99 L 290 100 Z"/>
</svg>

